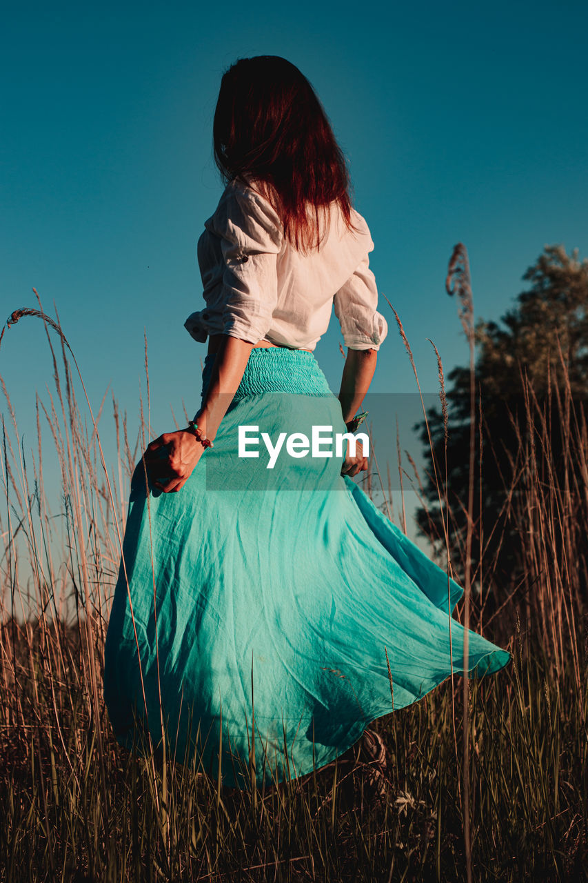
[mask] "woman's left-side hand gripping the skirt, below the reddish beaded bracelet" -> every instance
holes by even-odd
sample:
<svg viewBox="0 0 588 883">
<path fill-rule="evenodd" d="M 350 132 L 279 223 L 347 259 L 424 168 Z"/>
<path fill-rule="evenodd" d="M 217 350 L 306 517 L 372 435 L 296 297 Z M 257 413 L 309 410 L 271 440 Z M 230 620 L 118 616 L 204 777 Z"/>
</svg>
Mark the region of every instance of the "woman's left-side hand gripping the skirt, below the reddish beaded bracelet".
<svg viewBox="0 0 588 883">
<path fill-rule="evenodd" d="M 163 433 L 147 445 L 147 475 L 164 494 L 184 487 L 204 453 L 204 445 L 185 429 Z"/>
</svg>

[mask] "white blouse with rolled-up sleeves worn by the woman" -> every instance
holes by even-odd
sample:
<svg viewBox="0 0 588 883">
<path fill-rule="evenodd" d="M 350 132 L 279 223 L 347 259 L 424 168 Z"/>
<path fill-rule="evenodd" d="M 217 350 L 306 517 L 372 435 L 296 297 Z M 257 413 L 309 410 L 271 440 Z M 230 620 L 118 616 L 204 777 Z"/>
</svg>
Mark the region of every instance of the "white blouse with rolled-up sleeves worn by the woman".
<svg viewBox="0 0 588 883">
<path fill-rule="evenodd" d="M 388 323 L 376 310 L 366 221 L 351 209 L 358 232 L 348 230 L 336 203 L 323 219 L 328 228 L 320 249 L 303 254 L 284 237 L 268 200 L 231 181 L 198 242 L 206 308 L 185 321 L 194 340 L 226 334 L 312 351 L 334 306 L 345 346 L 380 349 Z"/>
</svg>

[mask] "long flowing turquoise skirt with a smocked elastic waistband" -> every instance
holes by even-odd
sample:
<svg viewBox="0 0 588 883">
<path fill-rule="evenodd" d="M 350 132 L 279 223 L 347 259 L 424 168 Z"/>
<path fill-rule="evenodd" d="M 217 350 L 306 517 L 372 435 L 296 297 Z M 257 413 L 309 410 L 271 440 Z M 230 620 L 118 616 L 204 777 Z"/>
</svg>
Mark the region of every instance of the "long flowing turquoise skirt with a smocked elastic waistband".
<svg viewBox="0 0 588 883">
<path fill-rule="evenodd" d="M 104 649 L 125 747 L 142 751 L 148 734 L 161 751 L 165 735 L 168 757 L 220 766 L 224 785 L 245 787 L 253 766 L 258 784 L 282 781 L 464 672 L 451 616 L 463 589 L 341 475 L 335 443 L 302 456 L 284 441 L 268 468 L 262 433 L 310 441 L 313 426 L 345 432 L 313 353 L 257 348 L 182 490 L 147 491 L 137 466 Z M 259 457 L 239 456 L 239 427 Z M 507 665 L 468 634 L 470 675 Z"/>
</svg>

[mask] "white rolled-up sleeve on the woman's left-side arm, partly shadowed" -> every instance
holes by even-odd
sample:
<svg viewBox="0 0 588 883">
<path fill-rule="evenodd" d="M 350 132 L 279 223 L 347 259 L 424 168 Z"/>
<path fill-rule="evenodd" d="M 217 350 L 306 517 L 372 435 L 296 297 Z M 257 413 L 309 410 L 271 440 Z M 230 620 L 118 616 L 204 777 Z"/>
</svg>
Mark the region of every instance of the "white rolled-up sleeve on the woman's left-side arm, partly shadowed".
<svg viewBox="0 0 588 883">
<path fill-rule="evenodd" d="M 249 188 L 233 188 L 212 218 L 221 238 L 223 333 L 249 343 L 271 328 L 277 303 L 277 255 L 283 245 L 278 215 Z"/>
</svg>

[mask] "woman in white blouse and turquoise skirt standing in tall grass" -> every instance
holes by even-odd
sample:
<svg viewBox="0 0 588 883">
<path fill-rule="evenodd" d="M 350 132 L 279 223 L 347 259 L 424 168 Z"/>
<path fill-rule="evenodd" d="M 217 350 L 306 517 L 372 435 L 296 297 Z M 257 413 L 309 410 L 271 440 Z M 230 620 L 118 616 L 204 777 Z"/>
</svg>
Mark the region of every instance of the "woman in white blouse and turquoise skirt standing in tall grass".
<svg viewBox="0 0 588 883">
<path fill-rule="evenodd" d="M 305 445 L 313 427 L 355 428 L 388 331 L 313 87 L 283 58 L 238 61 L 214 143 L 227 186 L 199 241 L 206 307 L 185 323 L 208 338 L 200 410 L 133 476 L 104 695 L 120 743 L 165 734 L 178 760 L 195 750 L 216 773 L 220 758 L 223 784 L 244 787 L 248 764 L 258 783 L 325 766 L 452 660 L 462 673 L 463 590 L 351 481 L 361 445 Z M 332 306 L 338 398 L 313 356 Z M 470 673 L 509 658 L 469 632 Z"/>
</svg>

